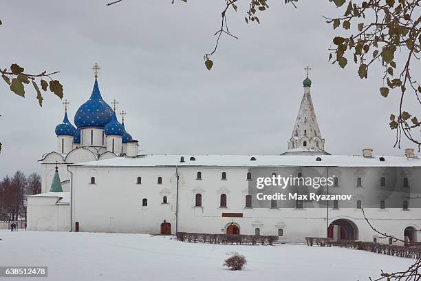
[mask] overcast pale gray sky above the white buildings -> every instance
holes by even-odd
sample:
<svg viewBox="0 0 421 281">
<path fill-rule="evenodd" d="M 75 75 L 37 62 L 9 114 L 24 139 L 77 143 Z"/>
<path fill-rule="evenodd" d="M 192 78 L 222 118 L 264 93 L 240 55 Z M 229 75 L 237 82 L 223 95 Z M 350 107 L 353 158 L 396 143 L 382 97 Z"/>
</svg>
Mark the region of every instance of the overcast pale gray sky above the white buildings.
<svg viewBox="0 0 421 281">
<path fill-rule="evenodd" d="M 147 154 L 281 154 L 303 95 L 303 68 L 312 67 L 312 99 L 331 154 L 403 154 L 393 149 L 388 118 L 397 94 L 382 98 L 380 73 L 360 81 L 327 62 L 334 36 L 322 15 L 339 11 L 329 1 L 300 0 L 298 9 L 271 1 L 261 24 L 246 24 L 247 1 L 228 12 L 213 70 L 203 55 L 213 49 L 223 1 L 125 0 L 4 1 L 0 19 L 0 67 L 19 63 L 26 72 L 60 71 L 70 102 L 69 118 L 85 102 L 100 65 L 102 97 L 116 98 L 127 112 L 127 131 Z M 0 83 L 0 176 L 20 169 L 40 171 L 36 162 L 56 150 L 54 128 L 63 105 L 34 90 L 26 98 Z M 402 147 L 414 147 L 407 141 Z"/>
</svg>

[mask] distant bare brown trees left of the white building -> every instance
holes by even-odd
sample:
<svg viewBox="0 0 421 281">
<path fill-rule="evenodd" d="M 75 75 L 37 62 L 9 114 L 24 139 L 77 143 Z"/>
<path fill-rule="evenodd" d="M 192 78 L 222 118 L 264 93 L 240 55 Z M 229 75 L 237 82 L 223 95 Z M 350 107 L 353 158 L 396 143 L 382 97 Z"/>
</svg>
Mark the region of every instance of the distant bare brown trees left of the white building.
<svg viewBox="0 0 421 281">
<path fill-rule="evenodd" d="M 26 196 L 41 193 L 41 176 L 21 171 L 0 181 L 0 221 L 26 220 Z"/>
</svg>

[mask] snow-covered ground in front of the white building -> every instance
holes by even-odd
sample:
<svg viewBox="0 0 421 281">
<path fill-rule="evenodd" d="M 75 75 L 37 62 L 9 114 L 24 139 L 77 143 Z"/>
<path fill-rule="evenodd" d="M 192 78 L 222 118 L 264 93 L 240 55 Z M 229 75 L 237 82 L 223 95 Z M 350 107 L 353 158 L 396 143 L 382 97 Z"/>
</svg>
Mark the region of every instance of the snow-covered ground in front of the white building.
<svg viewBox="0 0 421 281">
<path fill-rule="evenodd" d="M 0 231 L 0 238 L 1 266 L 48 267 L 48 278 L 34 280 L 355 281 L 414 262 L 338 247 L 195 244 L 142 234 Z M 233 251 L 246 256 L 244 271 L 222 267 Z"/>
</svg>

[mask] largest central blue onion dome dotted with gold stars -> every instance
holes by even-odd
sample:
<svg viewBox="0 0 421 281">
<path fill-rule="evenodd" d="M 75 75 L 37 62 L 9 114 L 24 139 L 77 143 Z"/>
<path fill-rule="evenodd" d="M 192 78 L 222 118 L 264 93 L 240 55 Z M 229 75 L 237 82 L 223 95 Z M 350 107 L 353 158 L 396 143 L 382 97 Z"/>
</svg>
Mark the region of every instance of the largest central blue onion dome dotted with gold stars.
<svg viewBox="0 0 421 281">
<path fill-rule="evenodd" d="M 83 127 L 103 128 L 111 121 L 113 114 L 111 107 L 102 99 L 98 80 L 95 79 L 91 97 L 83 105 L 80 105 L 74 115 L 74 123 L 79 129 Z"/>
</svg>

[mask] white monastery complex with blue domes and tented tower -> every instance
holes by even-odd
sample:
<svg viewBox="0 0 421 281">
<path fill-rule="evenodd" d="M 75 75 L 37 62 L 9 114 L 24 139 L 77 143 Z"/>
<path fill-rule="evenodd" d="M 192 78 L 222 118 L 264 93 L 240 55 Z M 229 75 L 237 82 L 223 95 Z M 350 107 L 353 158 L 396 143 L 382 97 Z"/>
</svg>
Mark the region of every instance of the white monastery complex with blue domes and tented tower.
<svg viewBox="0 0 421 281">
<path fill-rule="evenodd" d="M 28 229 L 399 243 L 371 230 L 364 207 L 380 231 L 421 241 L 421 204 L 412 199 L 420 195 L 421 159 L 413 149 L 403 156 L 374 155 L 372 149 L 353 156 L 327 153 L 311 84 L 307 75 L 288 150 L 280 155 L 151 155 L 139 154 L 124 114 L 120 123 L 115 103 L 113 110 L 102 99 L 96 75 L 89 100 L 74 115 L 76 127 L 66 109 L 63 123 L 56 126 L 56 151 L 39 160 L 42 193 L 28 196 Z M 270 207 L 256 207 L 250 190 L 257 175 L 329 176 L 334 178 L 329 192 L 353 196 L 349 202 L 321 206 L 295 200 L 289 207 L 278 207 L 272 200 Z M 384 193 L 386 187 L 398 196 L 369 196 L 371 190 Z"/>
</svg>

